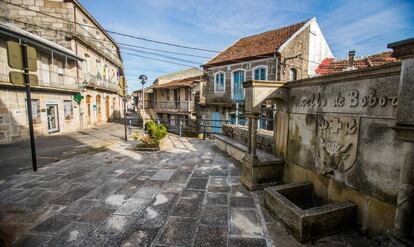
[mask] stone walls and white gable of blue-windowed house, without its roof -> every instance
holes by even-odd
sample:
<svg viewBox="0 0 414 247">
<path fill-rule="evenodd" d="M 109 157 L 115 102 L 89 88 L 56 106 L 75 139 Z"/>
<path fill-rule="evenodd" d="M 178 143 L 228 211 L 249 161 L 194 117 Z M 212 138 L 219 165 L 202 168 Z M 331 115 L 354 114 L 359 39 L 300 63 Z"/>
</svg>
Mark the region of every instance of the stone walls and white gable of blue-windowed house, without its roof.
<svg viewBox="0 0 414 247">
<path fill-rule="evenodd" d="M 201 115 L 205 119 L 212 119 L 212 114 L 217 115 L 218 113 L 221 120 L 234 122 L 236 100 L 233 95 L 233 73 L 235 71 L 243 71 L 244 80 L 250 81 L 254 79 L 255 69 L 263 67 L 266 68 L 266 81 L 286 82 L 314 76 L 316 74 L 314 63 L 321 62 L 326 57 L 333 57 L 333 55 L 316 20 L 311 19 L 271 56 L 246 58 L 243 61 L 228 61 L 217 66 L 205 66 L 207 83 L 203 91 L 206 102 L 201 109 Z M 312 62 L 310 59 L 313 59 Z M 224 92 L 215 90 L 214 79 L 219 72 L 225 73 Z M 292 73 L 295 75 L 293 76 Z M 243 92 L 245 97 L 246 92 Z M 244 115 L 244 98 L 237 101 L 240 105 L 240 114 Z"/>
</svg>

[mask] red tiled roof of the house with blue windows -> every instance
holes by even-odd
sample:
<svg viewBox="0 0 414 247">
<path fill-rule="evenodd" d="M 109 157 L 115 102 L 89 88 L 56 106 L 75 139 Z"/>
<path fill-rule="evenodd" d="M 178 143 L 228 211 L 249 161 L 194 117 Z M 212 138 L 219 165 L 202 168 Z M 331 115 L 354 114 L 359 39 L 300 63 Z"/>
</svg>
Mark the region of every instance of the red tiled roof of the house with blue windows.
<svg viewBox="0 0 414 247">
<path fill-rule="evenodd" d="M 303 21 L 287 27 L 242 38 L 208 61 L 204 66 L 219 65 L 233 60 L 271 55 L 296 31 L 305 25 L 306 22 Z"/>
</svg>

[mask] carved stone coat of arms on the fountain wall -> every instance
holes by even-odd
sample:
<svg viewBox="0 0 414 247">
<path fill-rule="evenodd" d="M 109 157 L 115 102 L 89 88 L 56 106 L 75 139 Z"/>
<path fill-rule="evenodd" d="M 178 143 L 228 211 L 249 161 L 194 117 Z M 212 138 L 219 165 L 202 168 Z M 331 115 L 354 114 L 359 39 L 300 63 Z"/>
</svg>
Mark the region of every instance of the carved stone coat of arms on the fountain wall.
<svg viewBox="0 0 414 247">
<path fill-rule="evenodd" d="M 359 118 L 318 115 L 316 160 L 320 173 L 346 171 L 354 164 Z"/>
</svg>

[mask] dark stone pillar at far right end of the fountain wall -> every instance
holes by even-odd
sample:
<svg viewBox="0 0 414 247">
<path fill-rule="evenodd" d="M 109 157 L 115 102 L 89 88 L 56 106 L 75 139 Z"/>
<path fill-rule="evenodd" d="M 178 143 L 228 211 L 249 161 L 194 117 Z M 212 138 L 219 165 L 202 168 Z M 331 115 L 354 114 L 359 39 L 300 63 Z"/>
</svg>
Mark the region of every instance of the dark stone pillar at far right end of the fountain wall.
<svg viewBox="0 0 414 247">
<path fill-rule="evenodd" d="M 398 93 L 397 138 L 404 143 L 393 236 L 407 246 L 414 245 L 414 38 L 388 45 L 401 59 Z"/>
</svg>

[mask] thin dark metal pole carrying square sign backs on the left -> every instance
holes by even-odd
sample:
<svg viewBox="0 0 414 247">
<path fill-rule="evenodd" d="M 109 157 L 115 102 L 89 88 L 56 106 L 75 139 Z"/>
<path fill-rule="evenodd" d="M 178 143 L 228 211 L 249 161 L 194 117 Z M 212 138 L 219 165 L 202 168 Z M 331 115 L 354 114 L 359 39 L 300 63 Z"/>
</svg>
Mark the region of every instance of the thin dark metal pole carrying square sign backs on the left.
<svg viewBox="0 0 414 247">
<path fill-rule="evenodd" d="M 29 118 L 29 132 L 30 132 L 30 148 L 32 151 L 32 166 L 33 171 L 37 171 L 37 157 L 36 157 L 36 143 L 33 128 L 33 116 L 32 116 L 32 96 L 30 92 L 30 77 L 29 77 L 29 61 L 27 56 L 27 42 L 22 40 L 20 46 L 22 47 L 23 55 L 23 71 L 24 71 L 24 84 L 26 85 L 26 98 L 27 98 L 27 114 Z"/>
</svg>

